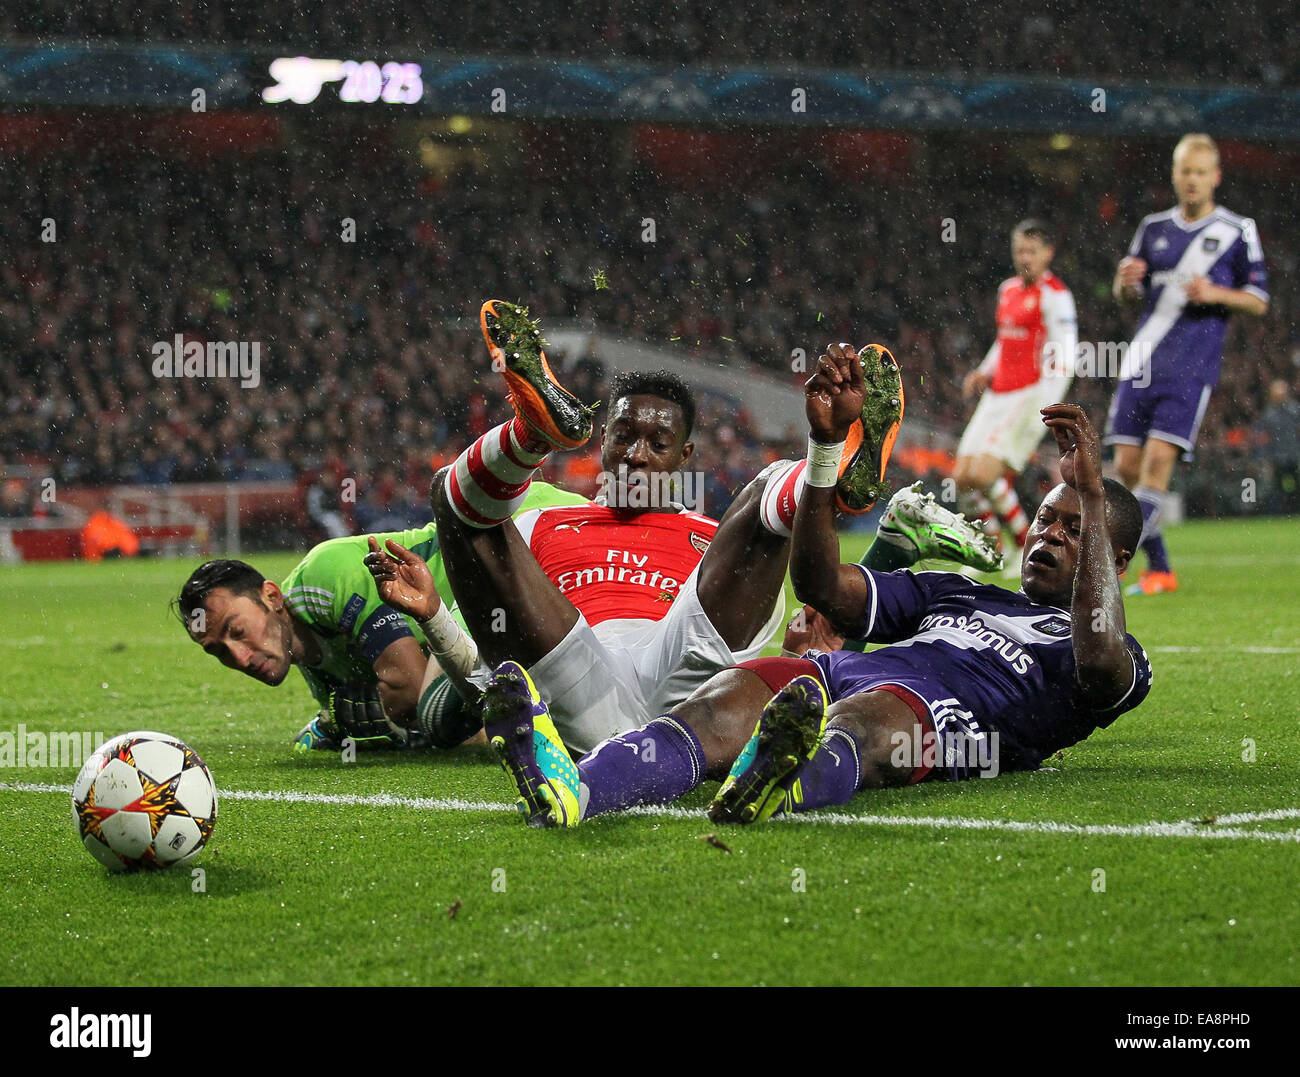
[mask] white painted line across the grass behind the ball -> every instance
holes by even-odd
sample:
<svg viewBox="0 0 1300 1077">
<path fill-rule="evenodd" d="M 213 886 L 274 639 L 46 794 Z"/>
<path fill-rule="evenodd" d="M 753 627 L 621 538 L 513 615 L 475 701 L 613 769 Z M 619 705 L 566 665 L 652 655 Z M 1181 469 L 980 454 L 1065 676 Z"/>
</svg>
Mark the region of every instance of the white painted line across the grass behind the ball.
<svg viewBox="0 0 1300 1077">
<path fill-rule="evenodd" d="M 58 792 L 68 795 L 72 786 L 53 786 L 44 782 L 0 782 L 0 791 Z M 344 804 L 365 808 L 413 808 L 429 812 L 514 812 L 511 804 L 458 797 L 393 796 L 391 793 L 304 793 L 296 791 L 217 790 L 218 800 L 259 800 L 281 804 Z M 701 809 L 642 806 L 630 808 L 627 814 L 667 819 L 706 819 Z M 815 814 L 785 816 L 777 823 L 823 823 L 831 826 L 927 827 L 931 830 L 998 830 L 1013 834 L 1061 834 L 1075 838 L 1205 838 L 1249 839 L 1254 842 L 1300 843 L 1300 830 L 1242 830 L 1232 823 L 1264 822 L 1268 819 L 1300 818 L 1300 809 L 1277 808 L 1268 812 L 1243 812 L 1219 816 L 1213 823 L 1192 819 L 1165 823 L 1061 823 L 1048 819 L 1019 822 L 1015 819 L 976 819 L 963 816 L 853 816 L 845 812 L 818 812 Z"/>
</svg>

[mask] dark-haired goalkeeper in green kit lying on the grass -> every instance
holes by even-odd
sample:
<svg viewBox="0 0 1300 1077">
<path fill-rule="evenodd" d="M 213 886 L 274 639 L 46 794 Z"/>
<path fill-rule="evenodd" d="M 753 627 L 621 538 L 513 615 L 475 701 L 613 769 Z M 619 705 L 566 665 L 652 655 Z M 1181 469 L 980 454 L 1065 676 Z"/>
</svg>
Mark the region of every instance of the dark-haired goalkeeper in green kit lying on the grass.
<svg viewBox="0 0 1300 1077">
<path fill-rule="evenodd" d="M 586 501 L 534 483 L 519 511 Z M 393 540 L 429 565 L 445 602 L 424 623 L 384 605 L 367 553 Z M 433 523 L 389 535 L 330 538 L 312 548 L 280 585 L 242 561 L 200 565 L 173 601 L 186 631 L 224 666 L 272 687 L 298 666 L 320 706 L 295 748 L 454 748 L 481 727 L 464 702 L 458 670 L 473 643 L 447 609 Z M 429 661 L 430 656 L 437 661 Z M 443 671 L 443 667 L 451 675 Z M 477 692 L 464 687 L 468 698 Z"/>
</svg>

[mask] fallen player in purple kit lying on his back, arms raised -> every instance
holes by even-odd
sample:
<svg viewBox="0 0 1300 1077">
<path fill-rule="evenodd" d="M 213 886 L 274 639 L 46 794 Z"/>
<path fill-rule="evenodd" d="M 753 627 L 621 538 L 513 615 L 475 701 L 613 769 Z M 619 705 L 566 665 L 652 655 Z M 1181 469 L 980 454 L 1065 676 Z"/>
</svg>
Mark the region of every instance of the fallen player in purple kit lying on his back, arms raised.
<svg viewBox="0 0 1300 1077">
<path fill-rule="evenodd" d="M 861 411 L 861 373 L 823 356 L 806 392 L 812 441 L 836 444 Z M 1018 593 L 956 572 L 841 565 L 833 490 L 810 481 L 794 523 L 796 593 L 833 626 L 815 630 L 823 636 L 889 645 L 741 663 L 576 764 L 542 735 L 545 704 L 521 698 L 511 721 L 538 735 L 511 771 L 516 788 L 525 800 L 576 805 L 529 821 L 572 826 L 675 800 L 724 774 L 710 814 L 754 822 L 844 804 L 859 788 L 1034 769 L 1141 702 L 1150 665 L 1124 632 L 1119 589 L 1140 509 L 1102 480 L 1082 408 L 1052 405 L 1043 415 L 1066 481 L 1031 524 Z"/>
</svg>

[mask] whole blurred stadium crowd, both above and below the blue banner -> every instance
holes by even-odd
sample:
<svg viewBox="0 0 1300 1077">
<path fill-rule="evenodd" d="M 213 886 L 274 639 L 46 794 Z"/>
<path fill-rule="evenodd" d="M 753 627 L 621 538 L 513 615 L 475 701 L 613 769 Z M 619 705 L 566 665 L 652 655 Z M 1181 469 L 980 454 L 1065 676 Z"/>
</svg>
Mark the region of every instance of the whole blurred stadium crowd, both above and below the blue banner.
<svg viewBox="0 0 1300 1077">
<path fill-rule="evenodd" d="M 997 33 L 980 30 L 992 3 L 844 9 L 833 20 L 794 3 L 668 7 L 671 17 L 640 0 L 545 0 L 526 12 L 502 0 L 34 0 L 0 8 L 0 40 L 1300 85 L 1300 23 L 1271 0 L 1209 21 L 1184 0 L 1104 16 L 1049 3 L 1015 16 L 1018 30 L 1004 17 Z M 1188 20 L 1196 34 L 1184 33 Z M 510 166 L 498 152 L 441 178 L 410 148 L 382 152 L 346 135 L 238 157 L 53 150 L 0 169 L 0 198 L 23 207 L 22 220 L 0 221 L 0 466 L 26 463 L 73 485 L 291 480 L 316 518 L 369 529 L 424 519 L 430 471 L 506 414 L 476 321 L 480 302 L 499 295 L 552 325 L 576 321 L 702 364 L 759 364 L 792 392 L 805 376 L 796 349 L 811 359 L 828 341 L 885 342 L 904 366 L 909 419 L 933 432 L 896 454 L 896 477 L 936 479 L 974 407 L 959 385 L 993 339 L 1011 225 L 1031 215 L 1053 224 L 1080 339 L 1121 342 L 1134 323 L 1110 298 L 1114 264 L 1140 217 L 1171 203 L 1164 161 L 1100 161 L 1063 181 L 1011 152 L 965 152 L 958 135 L 918 139 L 906 168 L 849 173 L 805 153 L 806 140 L 755 133 L 751 151 L 733 147 L 716 163 L 729 180 L 693 183 L 666 180 L 611 131 L 588 131 L 581 144 L 594 152 L 538 168 L 556 135 L 519 130 Z M 1294 509 L 1300 228 L 1288 185 L 1226 170 L 1223 203 L 1258 221 L 1273 306 L 1264 320 L 1232 321 L 1199 463 L 1180 485 L 1193 512 L 1242 511 L 1242 477 L 1262 480 L 1269 506 Z M 47 219 L 53 242 L 32 228 Z M 344 220 L 356 222 L 355 242 L 342 238 Z M 156 377 L 151 349 L 176 334 L 259 342 L 259 385 Z M 594 341 L 569 359 L 578 395 L 603 397 Z M 1110 377 L 1080 379 L 1074 397 L 1100 424 L 1112 388 Z M 767 460 L 802 451 L 797 431 L 760 440 L 728 399 L 702 401 L 696 440 L 714 512 Z M 590 455 L 572 454 L 551 477 L 592 492 L 595 471 Z M 1031 468 L 1024 481 L 1041 477 Z M 344 479 L 355 503 L 338 501 Z M 0 512 L 21 515 L 30 496 L 8 484 Z"/>
</svg>

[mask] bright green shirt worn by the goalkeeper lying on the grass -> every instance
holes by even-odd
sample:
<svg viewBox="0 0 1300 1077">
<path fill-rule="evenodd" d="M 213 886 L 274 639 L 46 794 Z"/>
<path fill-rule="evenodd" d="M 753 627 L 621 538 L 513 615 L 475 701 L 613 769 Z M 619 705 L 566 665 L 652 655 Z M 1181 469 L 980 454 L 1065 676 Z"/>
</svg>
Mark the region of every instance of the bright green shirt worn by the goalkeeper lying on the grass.
<svg viewBox="0 0 1300 1077">
<path fill-rule="evenodd" d="M 585 497 L 549 483 L 533 483 L 519 511 L 581 505 L 585 501 Z M 313 546 L 280 585 L 292 615 L 312 630 L 320 644 L 320 663 L 312 667 L 300 665 L 299 669 L 321 706 L 328 706 L 330 692 L 343 684 L 374 684 L 378 680 L 374 661 L 394 641 L 413 636 L 428 650 L 420 626 L 384 605 L 380 598 L 374 578 L 363 563 L 370 549 L 368 537 L 354 535 Z M 451 607 L 454 598 L 442 565 L 436 524 L 374 537 L 381 549 L 386 540 L 393 538 L 424 558 L 438 594 Z M 459 611 L 452 610 L 452 615 L 463 628 Z"/>
</svg>

